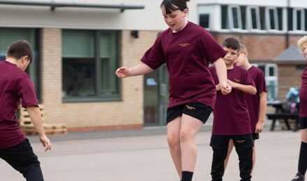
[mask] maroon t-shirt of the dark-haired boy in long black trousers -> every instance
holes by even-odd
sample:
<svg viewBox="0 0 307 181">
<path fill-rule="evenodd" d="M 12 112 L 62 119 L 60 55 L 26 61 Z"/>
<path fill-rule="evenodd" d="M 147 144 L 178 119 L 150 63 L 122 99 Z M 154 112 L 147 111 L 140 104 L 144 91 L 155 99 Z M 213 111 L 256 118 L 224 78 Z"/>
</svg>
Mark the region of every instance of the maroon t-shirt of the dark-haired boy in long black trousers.
<svg viewBox="0 0 307 181">
<path fill-rule="evenodd" d="M 216 68 L 210 67 L 210 72 L 214 77 L 214 82 L 218 84 Z M 234 66 L 227 70 L 227 79 L 244 85 L 253 85 L 253 79 L 248 75 L 247 70 Z M 223 95 L 220 91 L 216 95 L 216 104 L 214 107 L 214 125 L 213 135 L 241 135 L 250 134 L 250 116 L 244 100 L 246 93 L 232 88 L 232 92 Z"/>
</svg>

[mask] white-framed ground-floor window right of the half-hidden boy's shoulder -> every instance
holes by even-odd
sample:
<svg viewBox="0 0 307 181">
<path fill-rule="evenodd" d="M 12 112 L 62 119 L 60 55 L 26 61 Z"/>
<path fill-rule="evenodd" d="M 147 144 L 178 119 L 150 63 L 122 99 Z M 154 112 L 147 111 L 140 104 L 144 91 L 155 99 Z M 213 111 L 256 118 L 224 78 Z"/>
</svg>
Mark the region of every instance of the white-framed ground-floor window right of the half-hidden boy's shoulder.
<svg viewBox="0 0 307 181">
<path fill-rule="evenodd" d="M 278 96 L 278 74 L 275 64 L 255 64 L 264 72 L 265 81 L 267 84 L 267 100 L 277 100 Z"/>
</svg>

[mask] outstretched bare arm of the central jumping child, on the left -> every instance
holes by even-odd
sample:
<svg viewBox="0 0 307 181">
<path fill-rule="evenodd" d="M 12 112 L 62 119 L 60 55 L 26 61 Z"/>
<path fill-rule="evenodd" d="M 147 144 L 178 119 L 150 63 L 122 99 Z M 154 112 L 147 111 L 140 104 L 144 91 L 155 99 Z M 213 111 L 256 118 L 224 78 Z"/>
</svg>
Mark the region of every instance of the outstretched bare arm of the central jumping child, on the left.
<svg viewBox="0 0 307 181">
<path fill-rule="evenodd" d="M 141 74 L 148 74 L 153 72 L 152 68 L 149 68 L 145 63 L 140 63 L 139 65 L 135 65 L 133 68 L 121 67 L 118 68 L 115 74 L 119 78 L 132 77 Z"/>
</svg>

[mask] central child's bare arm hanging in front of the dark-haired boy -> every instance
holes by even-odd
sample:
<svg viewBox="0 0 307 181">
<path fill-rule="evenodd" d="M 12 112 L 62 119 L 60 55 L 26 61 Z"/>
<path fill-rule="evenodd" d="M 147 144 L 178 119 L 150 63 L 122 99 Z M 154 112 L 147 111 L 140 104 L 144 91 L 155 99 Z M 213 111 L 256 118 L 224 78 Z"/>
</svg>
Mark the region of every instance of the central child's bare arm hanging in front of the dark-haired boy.
<svg viewBox="0 0 307 181">
<path fill-rule="evenodd" d="M 216 68 L 216 74 L 218 75 L 218 82 L 220 84 L 216 85 L 216 91 L 221 91 L 223 95 L 227 95 L 232 91 L 232 87 L 227 84 L 227 69 L 223 58 L 218 58 L 214 63 Z"/>
</svg>

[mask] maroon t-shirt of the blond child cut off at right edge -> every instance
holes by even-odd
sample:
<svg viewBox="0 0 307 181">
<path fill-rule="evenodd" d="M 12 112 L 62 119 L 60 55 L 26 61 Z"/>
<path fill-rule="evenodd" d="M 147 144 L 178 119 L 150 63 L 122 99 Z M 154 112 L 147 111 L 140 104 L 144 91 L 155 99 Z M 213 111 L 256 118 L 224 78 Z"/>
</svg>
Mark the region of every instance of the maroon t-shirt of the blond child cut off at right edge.
<svg viewBox="0 0 307 181">
<path fill-rule="evenodd" d="M 301 89 L 299 91 L 299 117 L 307 117 L 307 68 L 301 74 Z"/>
</svg>

